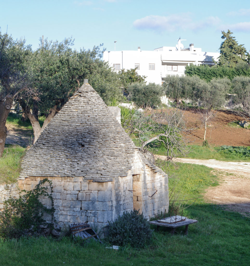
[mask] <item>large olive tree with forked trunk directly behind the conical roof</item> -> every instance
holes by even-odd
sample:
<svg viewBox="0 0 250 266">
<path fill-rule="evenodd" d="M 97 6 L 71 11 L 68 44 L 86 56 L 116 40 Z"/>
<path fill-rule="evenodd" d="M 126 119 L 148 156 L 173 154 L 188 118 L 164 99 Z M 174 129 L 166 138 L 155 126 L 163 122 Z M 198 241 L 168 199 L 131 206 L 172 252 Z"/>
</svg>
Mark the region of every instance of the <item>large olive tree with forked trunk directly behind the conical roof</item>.
<svg viewBox="0 0 250 266">
<path fill-rule="evenodd" d="M 68 98 L 83 84 L 84 78 L 88 78 L 105 102 L 110 97 L 121 98 L 119 77 L 100 59 L 100 47 L 78 52 L 72 50 L 72 45 L 72 38 L 61 42 L 46 39 L 33 54 L 32 88 L 35 93 L 22 93 L 18 101 L 30 119 L 34 143 Z M 39 114 L 46 116 L 42 127 Z"/>
</svg>

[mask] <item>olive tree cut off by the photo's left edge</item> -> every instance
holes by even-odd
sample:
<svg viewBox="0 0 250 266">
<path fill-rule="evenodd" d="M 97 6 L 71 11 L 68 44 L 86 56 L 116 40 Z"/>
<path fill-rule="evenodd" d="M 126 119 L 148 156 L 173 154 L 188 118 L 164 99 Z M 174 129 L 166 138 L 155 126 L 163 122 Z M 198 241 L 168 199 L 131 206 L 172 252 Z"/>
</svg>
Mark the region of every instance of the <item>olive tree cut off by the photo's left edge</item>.
<svg viewBox="0 0 250 266">
<path fill-rule="evenodd" d="M 14 40 L 0 31 L 0 156 L 7 136 L 6 119 L 21 92 L 31 93 L 32 50 L 25 40 Z"/>
</svg>

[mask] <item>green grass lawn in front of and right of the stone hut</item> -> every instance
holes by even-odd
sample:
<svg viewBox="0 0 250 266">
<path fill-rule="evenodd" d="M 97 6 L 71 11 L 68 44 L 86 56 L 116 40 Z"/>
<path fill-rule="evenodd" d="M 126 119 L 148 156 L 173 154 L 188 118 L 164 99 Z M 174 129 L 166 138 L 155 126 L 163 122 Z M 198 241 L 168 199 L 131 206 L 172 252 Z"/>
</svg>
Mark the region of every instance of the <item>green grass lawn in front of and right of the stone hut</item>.
<svg viewBox="0 0 250 266">
<path fill-rule="evenodd" d="M 211 169 L 202 165 L 181 164 L 168 171 L 169 188 L 177 184 L 179 199 L 202 196 L 208 186 L 218 185 Z M 60 241 L 43 237 L 1 239 L 0 265 L 249 266 L 249 218 L 205 202 L 203 197 L 197 198 L 184 213 L 198 220 L 189 226 L 187 236 L 183 235 L 185 227 L 177 228 L 175 235 L 162 227 L 154 232 L 150 246 L 141 250 L 124 247 L 115 251 L 106 249 L 108 244 L 93 242 L 81 246 L 69 237 Z"/>
</svg>

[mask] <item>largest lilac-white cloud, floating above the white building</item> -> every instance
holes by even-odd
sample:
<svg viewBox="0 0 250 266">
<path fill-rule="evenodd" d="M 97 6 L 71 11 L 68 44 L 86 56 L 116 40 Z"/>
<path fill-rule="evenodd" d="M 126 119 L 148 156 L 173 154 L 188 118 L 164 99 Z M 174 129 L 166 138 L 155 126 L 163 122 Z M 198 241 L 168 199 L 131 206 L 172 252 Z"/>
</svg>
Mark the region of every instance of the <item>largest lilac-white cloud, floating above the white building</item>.
<svg viewBox="0 0 250 266">
<path fill-rule="evenodd" d="M 170 16 L 150 15 L 133 22 L 135 28 L 139 30 L 155 31 L 176 31 L 182 30 L 200 30 L 210 26 L 217 26 L 220 23 L 218 17 L 208 17 L 203 21 L 192 20 L 191 13 L 174 14 Z"/>
</svg>

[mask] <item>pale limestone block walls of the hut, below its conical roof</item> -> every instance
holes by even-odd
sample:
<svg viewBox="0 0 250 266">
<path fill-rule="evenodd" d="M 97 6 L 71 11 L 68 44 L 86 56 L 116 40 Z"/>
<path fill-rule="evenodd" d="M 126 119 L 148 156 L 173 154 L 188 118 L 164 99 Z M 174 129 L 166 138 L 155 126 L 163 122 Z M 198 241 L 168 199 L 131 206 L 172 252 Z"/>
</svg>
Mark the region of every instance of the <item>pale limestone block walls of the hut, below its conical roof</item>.
<svg viewBox="0 0 250 266">
<path fill-rule="evenodd" d="M 83 181 L 82 177 L 47 177 L 53 186 L 55 220 L 62 227 L 70 223 L 89 222 L 100 229 L 133 208 L 140 209 L 147 218 L 158 211 L 167 211 L 167 176 L 162 178 L 149 167 L 137 170 L 139 174 L 129 174 L 109 182 Z M 18 186 L 31 190 L 43 178 L 22 178 L 18 180 Z M 41 199 L 41 202 L 51 207 L 48 198 Z M 51 219 L 46 218 L 47 221 Z"/>
</svg>

